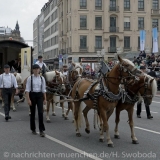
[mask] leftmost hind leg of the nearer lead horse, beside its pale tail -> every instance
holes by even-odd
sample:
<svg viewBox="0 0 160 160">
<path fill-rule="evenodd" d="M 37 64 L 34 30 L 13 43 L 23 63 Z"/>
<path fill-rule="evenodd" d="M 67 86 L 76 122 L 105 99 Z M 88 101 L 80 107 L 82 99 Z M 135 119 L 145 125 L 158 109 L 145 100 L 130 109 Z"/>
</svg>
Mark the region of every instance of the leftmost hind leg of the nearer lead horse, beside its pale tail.
<svg viewBox="0 0 160 160">
<path fill-rule="evenodd" d="M 80 128 L 80 118 L 82 117 L 81 109 L 80 109 L 80 102 L 74 102 L 74 119 L 76 125 L 76 136 L 81 137 L 79 128 Z"/>
</svg>

